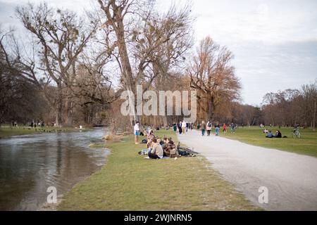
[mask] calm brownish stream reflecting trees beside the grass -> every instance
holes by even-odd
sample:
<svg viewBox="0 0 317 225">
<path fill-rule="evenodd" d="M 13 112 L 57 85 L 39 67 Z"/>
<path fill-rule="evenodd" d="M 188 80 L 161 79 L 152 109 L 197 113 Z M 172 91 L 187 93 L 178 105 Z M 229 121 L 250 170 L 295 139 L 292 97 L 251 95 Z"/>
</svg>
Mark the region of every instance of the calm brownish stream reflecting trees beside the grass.
<svg viewBox="0 0 317 225">
<path fill-rule="evenodd" d="M 47 188 L 57 195 L 96 172 L 108 151 L 89 148 L 100 142 L 105 129 L 35 134 L 0 139 L 0 210 L 38 210 L 46 203 Z"/>
</svg>

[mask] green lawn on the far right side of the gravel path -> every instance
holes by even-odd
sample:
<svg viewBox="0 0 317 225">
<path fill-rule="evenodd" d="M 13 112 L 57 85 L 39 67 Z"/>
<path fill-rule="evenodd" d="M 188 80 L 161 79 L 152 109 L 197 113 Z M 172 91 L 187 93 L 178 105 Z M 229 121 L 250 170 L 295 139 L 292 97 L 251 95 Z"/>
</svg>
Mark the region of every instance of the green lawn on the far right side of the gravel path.
<svg viewBox="0 0 317 225">
<path fill-rule="evenodd" d="M 273 134 L 275 134 L 275 131 L 278 129 L 278 127 L 268 127 L 267 129 L 271 130 Z M 222 134 L 220 132 L 220 136 L 242 141 L 244 143 L 249 143 L 254 146 L 276 148 L 292 153 L 317 157 L 317 131 L 313 131 L 311 129 L 300 129 L 300 139 L 292 138 L 291 127 L 280 128 L 282 136 L 287 136 L 287 139 L 266 139 L 265 134 L 263 134 L 262 131 L 263 128 L 260 127 L 240 127 L 235 130 L 235 134 L 230 134 L 230 131 L 228 131 L 226 134 Z"/>
</svg>

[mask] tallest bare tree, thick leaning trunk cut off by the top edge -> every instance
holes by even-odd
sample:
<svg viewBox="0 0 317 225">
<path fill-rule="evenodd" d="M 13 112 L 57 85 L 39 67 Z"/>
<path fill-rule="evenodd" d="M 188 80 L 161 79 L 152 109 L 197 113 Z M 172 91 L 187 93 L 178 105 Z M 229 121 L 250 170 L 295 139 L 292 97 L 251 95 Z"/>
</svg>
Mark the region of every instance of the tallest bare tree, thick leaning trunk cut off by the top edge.
<svg viewBox="0 0 317 225">
<path fill-rule="evenodd" d="M 137 84 L 149 89 L 159 74 L 163 61 L 179 58 L 185 51 L 185 37 L 188 31 L 188 10 L 169 11 L 165 16 L 154 13 L 154 1 L 98 0 L 106 15 L 104 31 L 109 56 L 116 58 L 120 69 L 120 84 L 125 90 L 136 94 Z M 178 41 L 176 41 L 178 40 Z M 184 39 L 185 40 L 185 39 Z M 168 58 L 163 52 L 172 48 Z M 176 51 L 176 49 L 178 49 Z M 154 72 L 154 70 L 156 70 Z M 134 110 L 136 112 L 137 103 Z M 130 118 L 139 120 L 136 115 Z"/>
</svg>

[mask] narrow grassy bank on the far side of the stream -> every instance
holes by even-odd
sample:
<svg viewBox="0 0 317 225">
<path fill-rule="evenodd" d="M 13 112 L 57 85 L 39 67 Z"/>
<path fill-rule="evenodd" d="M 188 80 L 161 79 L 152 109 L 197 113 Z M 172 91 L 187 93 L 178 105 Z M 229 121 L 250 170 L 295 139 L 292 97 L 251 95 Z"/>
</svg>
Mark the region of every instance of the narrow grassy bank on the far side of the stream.
<svg viewBox="0 0 317 225">
<path fill-rule="evenodd" d="M 71 132 L 71 131 L 79 131 L 75 127 L 10 127 L 10 126 L 1 126 L 0 127 L 0 139 L 1 138 L 8 138 L 10 136 L 18 136 L 18 135 L 25 135 L 25 134 L 40 134 L 40 133 L 54 133 L 54 132 Z M 83 129 L 85 130 L 85 129 Z"/>
</svg>

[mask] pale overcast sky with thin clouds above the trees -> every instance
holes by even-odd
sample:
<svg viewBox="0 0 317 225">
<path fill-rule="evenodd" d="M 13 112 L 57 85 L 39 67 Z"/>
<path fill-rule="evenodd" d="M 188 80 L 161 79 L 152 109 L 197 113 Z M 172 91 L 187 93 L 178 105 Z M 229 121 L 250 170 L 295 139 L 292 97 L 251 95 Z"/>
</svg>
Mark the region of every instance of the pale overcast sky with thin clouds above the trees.
<svg viewBox="0 0 317 225">
<path fill-rule="evenodd" d="M 89 0 L 47 2 L 81 13 L 92 6 Z M 0 0 L 0 23 L 18 27 L 14 8 L 25 3 Z M 169 5 L 168 0 L 158 1 L 162 10 Z M 232 63 L 242 83 L 244 103 L 259 105 L 267 92 L 299 88 L 317 78 L 316 8 L 315 0 L 194 0 L 194 39 L 198 43 L 210 35 L 228 46 L 235 55 Z"/>
</svg>

